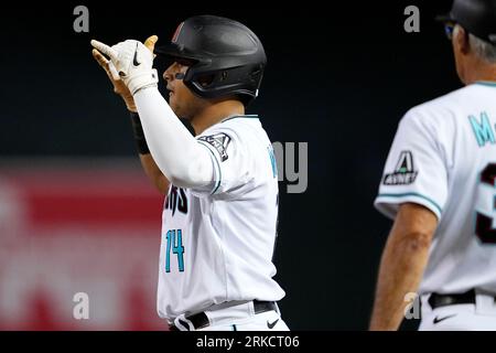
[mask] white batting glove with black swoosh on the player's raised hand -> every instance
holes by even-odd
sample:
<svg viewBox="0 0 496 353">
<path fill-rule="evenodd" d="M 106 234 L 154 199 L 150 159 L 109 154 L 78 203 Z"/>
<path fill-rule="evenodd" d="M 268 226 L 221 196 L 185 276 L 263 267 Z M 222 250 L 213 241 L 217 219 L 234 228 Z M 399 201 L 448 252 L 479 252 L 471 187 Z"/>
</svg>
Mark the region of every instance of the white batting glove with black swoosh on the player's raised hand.
<svg viewBox="0 0 496 353">
<path fill-rule="evenodd" d="M 127 40 L 114 46 L 91 41 L 91 45 L 110 57 L 120 78 L 132 95 L 147 87 L 157 87 L 159 75 L 153 66 L 153 53 L 141 42 Z"/>
</svg>

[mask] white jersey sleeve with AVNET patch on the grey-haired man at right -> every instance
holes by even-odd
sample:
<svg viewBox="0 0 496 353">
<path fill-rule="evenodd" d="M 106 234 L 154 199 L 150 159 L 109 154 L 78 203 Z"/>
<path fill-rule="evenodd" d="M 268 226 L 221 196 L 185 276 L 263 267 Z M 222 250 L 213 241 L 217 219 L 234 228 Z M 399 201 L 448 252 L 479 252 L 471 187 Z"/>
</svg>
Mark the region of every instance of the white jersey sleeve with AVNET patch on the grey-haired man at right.
<svg viewBox="0 0 496 353">
<path fill-rule="evenodd" d="M 440 127 L 427 118 L 410 110 L 398 127 L 374 203 L 388 217 L 411 202 L 441 218 L 448 197 L 445 148 L 438 137 Z"/>
</svg>

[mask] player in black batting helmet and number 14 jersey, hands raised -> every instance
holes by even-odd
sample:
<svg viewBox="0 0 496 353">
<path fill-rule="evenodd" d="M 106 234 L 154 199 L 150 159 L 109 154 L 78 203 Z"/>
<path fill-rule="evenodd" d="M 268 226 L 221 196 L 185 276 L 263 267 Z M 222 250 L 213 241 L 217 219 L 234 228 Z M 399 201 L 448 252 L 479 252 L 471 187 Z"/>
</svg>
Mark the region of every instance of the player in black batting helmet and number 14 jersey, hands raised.
<svg viewBox="0 0 496 353">
<path fill-rule="evenodd" d="M 276 160 L 259 118 L 245 114 L 262 79 L 262 44 L 213 15 L 185 20 L 164 46 L 157 41 L 91 45 L 131 111 L 145 173 L 166 194 L 159 315 L 180 331 L 287 331 L 276 303 L 284 291 L 272 279 Z M 172 62 L 163 73 L 169 104 L 153 51 Z"/>
</svg>

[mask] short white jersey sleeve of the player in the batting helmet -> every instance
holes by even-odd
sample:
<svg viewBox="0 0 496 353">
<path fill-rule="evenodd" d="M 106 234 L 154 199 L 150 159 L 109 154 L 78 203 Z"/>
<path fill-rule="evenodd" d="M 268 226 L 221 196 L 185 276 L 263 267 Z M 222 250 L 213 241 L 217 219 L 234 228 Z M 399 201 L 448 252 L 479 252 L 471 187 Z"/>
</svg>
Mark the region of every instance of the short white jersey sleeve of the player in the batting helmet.
<svg viewBox="0 0 496 353">
<path fill-rule="evenodd" d="M 251 154 L 244 139 L 229 128 L 217 128 L 197 138 L 198 145 L 207 149 L 214 167 L 214 180 L 208 185 L 192 189 L 198 196 L 241 195 L 252 180 Z"/>
</svg>

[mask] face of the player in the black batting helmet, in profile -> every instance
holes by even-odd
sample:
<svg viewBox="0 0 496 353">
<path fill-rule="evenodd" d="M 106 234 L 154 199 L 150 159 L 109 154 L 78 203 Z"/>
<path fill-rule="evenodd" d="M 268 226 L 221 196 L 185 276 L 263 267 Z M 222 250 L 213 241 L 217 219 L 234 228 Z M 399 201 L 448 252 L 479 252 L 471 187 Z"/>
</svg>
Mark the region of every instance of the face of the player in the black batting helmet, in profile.
<svg viewBox="0 0 496 353">
<path fill-rule="evenodd" d="M 176 61 L 165 69 L 163 78 L 168 83 L 169 105 L 172 110 L 176 116 L 192 120 L 203 108 L 203 99 L 196 97 L 181 78 L 187 68 L 187 62 Z"/>
</svg>

